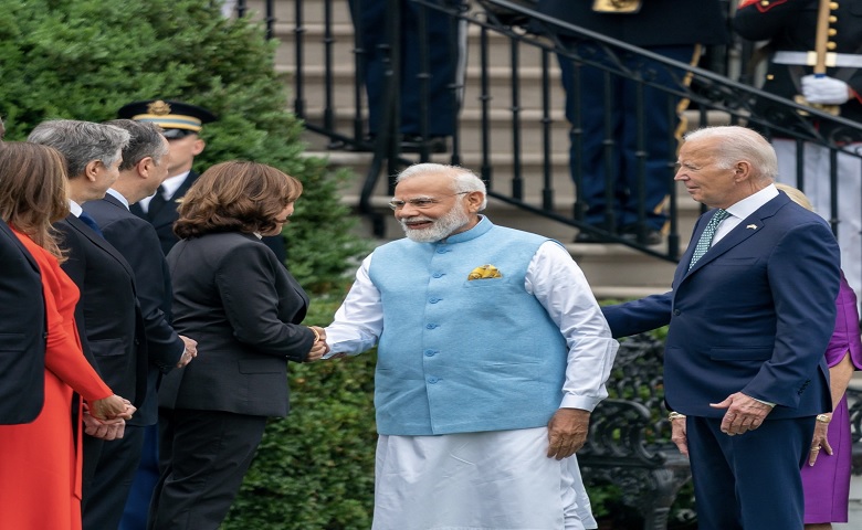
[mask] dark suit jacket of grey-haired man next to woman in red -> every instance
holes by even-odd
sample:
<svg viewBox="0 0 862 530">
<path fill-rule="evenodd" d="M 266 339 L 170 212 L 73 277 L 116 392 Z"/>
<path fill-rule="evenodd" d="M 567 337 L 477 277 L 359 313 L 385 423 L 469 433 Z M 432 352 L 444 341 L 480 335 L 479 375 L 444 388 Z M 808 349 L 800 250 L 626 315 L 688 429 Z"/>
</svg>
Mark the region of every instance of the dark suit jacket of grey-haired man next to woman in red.
<svg viewBox="0 0 862 530">
<path fill-rule="evenodd" d="M 63 271 L 81 289 L 75 320 L 84 356 L 114 393 L 139 409 L 147 393 L 147 344 L 135 273 L 74 214 L 54 227 L 67 251 Z"/>
</svg>

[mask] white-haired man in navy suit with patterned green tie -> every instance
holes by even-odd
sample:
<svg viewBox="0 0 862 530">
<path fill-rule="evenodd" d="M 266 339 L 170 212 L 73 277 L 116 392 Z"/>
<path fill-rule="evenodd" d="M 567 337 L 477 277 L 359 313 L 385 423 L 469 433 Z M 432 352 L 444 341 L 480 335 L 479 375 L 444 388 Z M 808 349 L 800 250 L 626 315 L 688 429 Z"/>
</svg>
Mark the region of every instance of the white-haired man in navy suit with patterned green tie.
<svg viewBox="0 0 862 530">
<path fill-rule="evenodd" d="M 687 135 L 675 180 L 713 210 L 670 293 L 605 309 L 614 337 L 670 324 L 665 402 L 672 439 L 691 458 L 701 530 L 801 530 L 799 469 L 816 416 L 831 410 L 823 351 L 838 244 L 775 188 L 777 167 L 750 129 Z"/>
</svg>

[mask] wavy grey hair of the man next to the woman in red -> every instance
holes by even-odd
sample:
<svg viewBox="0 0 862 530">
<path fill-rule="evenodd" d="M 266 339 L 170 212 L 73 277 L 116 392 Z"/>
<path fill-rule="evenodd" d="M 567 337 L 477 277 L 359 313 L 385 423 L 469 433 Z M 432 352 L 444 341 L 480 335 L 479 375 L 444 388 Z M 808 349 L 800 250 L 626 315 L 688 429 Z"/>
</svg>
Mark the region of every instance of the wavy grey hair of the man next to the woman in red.
<svg viewBox="0 0 862 530">
<path fill-rule="evenodd" d="M 84 173 L 87 163 L 101 160 L 105 166 L 114 165 L 128 145 L 129 134 L 113 125 L 78 121 L 75 119 L 52 119 L 39 124 L 27 141 L 51 146 L 66 159 L 69 178 Z"/>
</svg>

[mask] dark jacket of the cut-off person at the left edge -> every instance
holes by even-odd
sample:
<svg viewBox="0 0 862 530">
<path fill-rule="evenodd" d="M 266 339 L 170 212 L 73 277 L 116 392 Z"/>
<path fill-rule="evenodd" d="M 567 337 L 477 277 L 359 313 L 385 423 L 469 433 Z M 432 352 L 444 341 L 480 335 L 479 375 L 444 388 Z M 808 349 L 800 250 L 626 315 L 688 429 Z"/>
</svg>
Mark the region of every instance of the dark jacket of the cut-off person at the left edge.
<svg viewBox="0 0 862 530">
<path fill-rule="evenodd" d="M 0 424 L 30 423 L 42 411 L 45 326 L 39 265 L 0 221 Z"/>
</svg>

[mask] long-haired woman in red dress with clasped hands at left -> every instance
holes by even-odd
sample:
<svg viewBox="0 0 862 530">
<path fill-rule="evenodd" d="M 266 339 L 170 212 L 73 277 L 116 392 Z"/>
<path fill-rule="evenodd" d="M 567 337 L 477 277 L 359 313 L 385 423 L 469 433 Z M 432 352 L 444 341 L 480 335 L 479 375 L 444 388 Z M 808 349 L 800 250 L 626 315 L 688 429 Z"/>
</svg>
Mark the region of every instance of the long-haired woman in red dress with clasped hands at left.
<svg viewBox="0 0 862 530">
<path fill-rule="evenodd" d="M 0 144 L 0 219 L 39 265 L 48 329 L 42 411 L 31 423 L 0 426 L 3 528 L 81 529 L 83 427 L 73 430 L 73 391 L 99 421 L 128 420 L 134 413 L 81 349 L 74 320 L 78 290 L 60 268 L 63 255 L 51 232 L 51 223 L 67 209 L 62 155 L 34 144 Z M 80 422 L 83 405 L 77 406 L 74 417 Z"/>
</svg>

